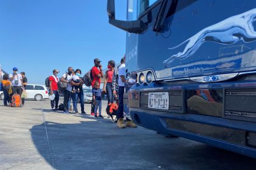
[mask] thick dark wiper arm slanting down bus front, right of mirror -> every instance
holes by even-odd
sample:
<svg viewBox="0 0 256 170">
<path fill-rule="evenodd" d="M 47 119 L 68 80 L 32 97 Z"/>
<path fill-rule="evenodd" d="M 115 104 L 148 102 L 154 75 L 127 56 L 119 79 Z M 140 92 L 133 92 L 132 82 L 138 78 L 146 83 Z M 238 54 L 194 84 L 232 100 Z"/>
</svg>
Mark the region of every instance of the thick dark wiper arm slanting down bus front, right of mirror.
<svg viewBox="0 0 256 170">
<path fill-rule="evenodd" d="M 155 18 L 155 24 L 153 27 L 154 32 L 160 32 L 165 22 L 165 18 L 168 15 L 169 9 L 171 9 L 172 2 L 175 0 L 162 0 L 160 10 Z"/>
</svg>

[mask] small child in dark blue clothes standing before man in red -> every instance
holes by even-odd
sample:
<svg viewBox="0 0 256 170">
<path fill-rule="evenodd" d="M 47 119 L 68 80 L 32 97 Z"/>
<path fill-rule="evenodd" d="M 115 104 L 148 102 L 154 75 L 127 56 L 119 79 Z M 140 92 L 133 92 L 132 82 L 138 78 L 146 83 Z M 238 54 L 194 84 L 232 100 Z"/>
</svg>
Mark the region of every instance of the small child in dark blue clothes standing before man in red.
<svg viewBox="0 0 256 170">
<path fill-rule="evenodd" d="M 93 101 L 94 101 L 94 105 L 95 105 L 95 110 L 94 110 L 94 117 L 98 117 L 97 116 L 97 110 L 99 107 L 99 117 L 98 118 L 104 118 L 101 115 L 101 89 L 99 89 L 99 82 L 96 81 L 96 83 L 94 84 L 94 89 L 93 89 Z"/>
</svg>

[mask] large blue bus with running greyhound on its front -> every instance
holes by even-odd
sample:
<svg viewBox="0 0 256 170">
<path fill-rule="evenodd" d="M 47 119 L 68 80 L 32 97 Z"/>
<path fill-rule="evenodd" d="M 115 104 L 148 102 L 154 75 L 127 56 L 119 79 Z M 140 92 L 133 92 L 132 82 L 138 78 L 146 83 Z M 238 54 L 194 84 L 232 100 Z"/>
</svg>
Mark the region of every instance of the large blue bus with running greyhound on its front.
<svg viewBox="0 0 256 170">
<path fill-rule="evenodd" d="M 255 0 L 128 0 L 134 123 L 256 158 Z"/>
</svg>

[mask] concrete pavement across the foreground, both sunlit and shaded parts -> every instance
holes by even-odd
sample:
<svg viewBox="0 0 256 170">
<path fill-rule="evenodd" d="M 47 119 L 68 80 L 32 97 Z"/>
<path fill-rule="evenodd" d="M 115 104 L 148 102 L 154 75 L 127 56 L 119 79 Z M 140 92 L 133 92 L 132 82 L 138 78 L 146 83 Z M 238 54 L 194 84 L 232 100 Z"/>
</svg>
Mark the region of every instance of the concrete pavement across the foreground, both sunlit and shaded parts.
<svg viewBox="0 0 256 170">
<path fill-rule="evenodd" d="M 0 103 L 0 169 L 256 168 L 254 158 L 185 138 L 118 129 L 105 112 L 99 119 L 52 112 L 49 100 L 20 108 Z M 85 108 L 89 113 L 90 104 Z"/>
</svg>

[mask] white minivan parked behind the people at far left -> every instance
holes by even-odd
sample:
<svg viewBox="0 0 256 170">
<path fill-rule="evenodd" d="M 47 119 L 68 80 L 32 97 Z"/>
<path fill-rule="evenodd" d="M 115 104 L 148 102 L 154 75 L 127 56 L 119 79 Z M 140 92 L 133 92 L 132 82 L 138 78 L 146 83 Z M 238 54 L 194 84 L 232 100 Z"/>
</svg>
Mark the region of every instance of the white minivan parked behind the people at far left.
<svg viewBox="0 0 256 170">
<path fill-rule="evenodd" d="M 27 98 L 40 101 L 43 98 L 49 98 L 48 90 L 45 86 L 37 84 L 27 84 L 26 86 Z M 0 100 L 4 100 L 4 93 L 0 91 Z"/>
</svg>

